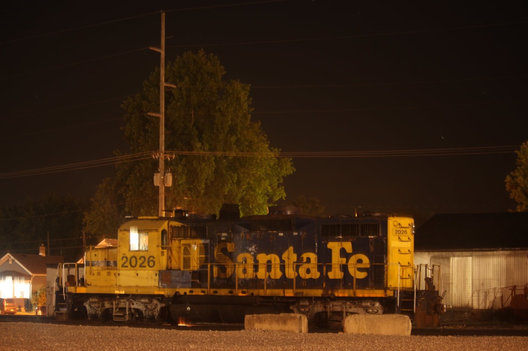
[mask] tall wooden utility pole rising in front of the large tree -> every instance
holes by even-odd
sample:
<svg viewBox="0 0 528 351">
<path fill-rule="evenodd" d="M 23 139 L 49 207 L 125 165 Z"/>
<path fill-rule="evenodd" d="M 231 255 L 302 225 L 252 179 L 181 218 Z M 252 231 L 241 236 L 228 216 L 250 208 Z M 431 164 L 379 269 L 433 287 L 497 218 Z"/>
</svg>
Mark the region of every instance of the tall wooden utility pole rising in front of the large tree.
<svg viewBox="0 0 528 351">
<path fill-rule="evenodd" d="M 158 217 L 164 216 L 165 211 L 165 87 L 176 87 L 174 84 L 165 83 L 165 12 L 162 12 L 162 35 L 161 47 L 150 47 L 150 50 L 157 51 L 161 54 L 159 63 L 159 113 L 149 112 L 149 115 L 159 117 L 159 195 L 158 195 Z"/>
</svg>

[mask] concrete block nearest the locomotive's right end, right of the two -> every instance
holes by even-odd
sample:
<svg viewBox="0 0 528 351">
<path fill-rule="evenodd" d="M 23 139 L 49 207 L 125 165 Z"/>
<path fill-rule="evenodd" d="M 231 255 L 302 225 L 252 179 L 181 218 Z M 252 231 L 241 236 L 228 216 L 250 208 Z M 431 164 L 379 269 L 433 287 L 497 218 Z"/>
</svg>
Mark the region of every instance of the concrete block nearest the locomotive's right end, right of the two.
<svg viewBox="0 0 528 351">
<path fill-rule="evenodd" d="M 351 315 L 343 328 L 346 334 L 411 335 L 411 320 L 404 315 Z"/>
</svg>

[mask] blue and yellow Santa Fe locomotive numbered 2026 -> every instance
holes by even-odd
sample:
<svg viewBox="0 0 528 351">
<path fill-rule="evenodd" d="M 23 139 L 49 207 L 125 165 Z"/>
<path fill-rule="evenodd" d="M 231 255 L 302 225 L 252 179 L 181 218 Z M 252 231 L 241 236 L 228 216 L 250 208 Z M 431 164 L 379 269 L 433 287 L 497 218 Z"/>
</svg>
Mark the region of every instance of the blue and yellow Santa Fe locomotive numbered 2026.
<svg viewBox="0 0 528 351">
<path fill-rule="evenodd" d="M 379 213 L 310 217 L 275 206 L 240 217 L 225 204 L 218 218 L 179 209 L 131 218 L 117 245 L 59 266 L 54 314 L 196 324 L 297 313 L 310 327 L 341 327 L 350 314 L 397 313 L 437 327 L 441 296 L 431 268 L 414 266 L 413 244 L 412 218 Z"/>
</svg>

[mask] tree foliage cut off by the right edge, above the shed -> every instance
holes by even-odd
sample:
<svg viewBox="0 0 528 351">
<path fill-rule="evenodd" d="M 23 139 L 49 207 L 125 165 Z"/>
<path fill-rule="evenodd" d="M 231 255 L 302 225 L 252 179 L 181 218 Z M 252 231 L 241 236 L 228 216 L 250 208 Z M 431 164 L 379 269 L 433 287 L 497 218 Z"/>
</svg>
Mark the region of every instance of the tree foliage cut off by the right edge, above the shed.
<svg viewBox="0 0 528 351">
<path fill-rule="evenodd" d="M 517 167 L 506 176 L 506 191 L 510 192 L 510 198 L 517 202 L 515 211 L 528 211 L 528 141 L 521 145 L 521 149 L 515 151 L 517 154 Z"/>
</svg>

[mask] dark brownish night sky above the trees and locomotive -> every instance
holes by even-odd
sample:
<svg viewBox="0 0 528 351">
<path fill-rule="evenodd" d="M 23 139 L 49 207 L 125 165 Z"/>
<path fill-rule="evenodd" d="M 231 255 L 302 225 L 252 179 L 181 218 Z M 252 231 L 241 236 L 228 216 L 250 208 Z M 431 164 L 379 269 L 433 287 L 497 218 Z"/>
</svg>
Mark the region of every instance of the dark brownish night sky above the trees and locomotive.
<svg viewBox="0 0 528 351">
<path fill-rule="evenodd" d="M 422 219 L 515 207 L 504 179 L 528 140 L 522 1 L 3 7 L 0 206 L 49 192 L 89 198 L 113 174 L 112 165 L 11 172 L 126 151 L 120 104 L 159 66 L 148 47 L 159 46 L 164 10 L 166 62 L 200 48 L 215 54 L 226 79 L 251 85 L 252 116 L 271 147 L 303 153 L 285 178 L 286 201 L 304 195 L 328 214 Z"/>
</svg>

